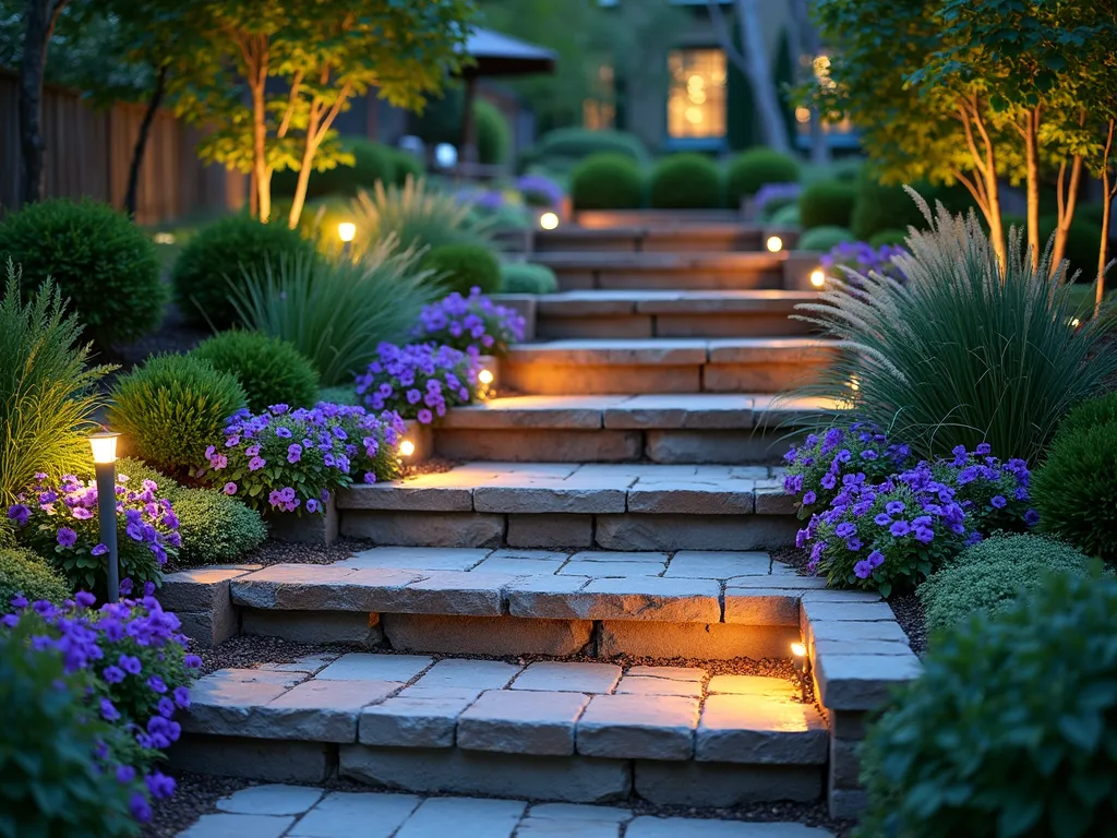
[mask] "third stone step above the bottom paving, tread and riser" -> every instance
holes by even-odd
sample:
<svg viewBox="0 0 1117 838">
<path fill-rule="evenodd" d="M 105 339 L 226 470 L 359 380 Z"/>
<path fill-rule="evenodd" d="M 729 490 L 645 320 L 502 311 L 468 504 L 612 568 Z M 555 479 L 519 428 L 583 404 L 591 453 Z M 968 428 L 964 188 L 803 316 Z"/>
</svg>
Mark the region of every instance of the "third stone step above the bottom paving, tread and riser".
<svg viewBox="0 0 1117 838">
<path fill-rule="evenodd" d="M 468 463 L 337 494 L 341 532 L 448 547 L 758 550 L 794 539 L 764 466 Z"/>
</svg>

